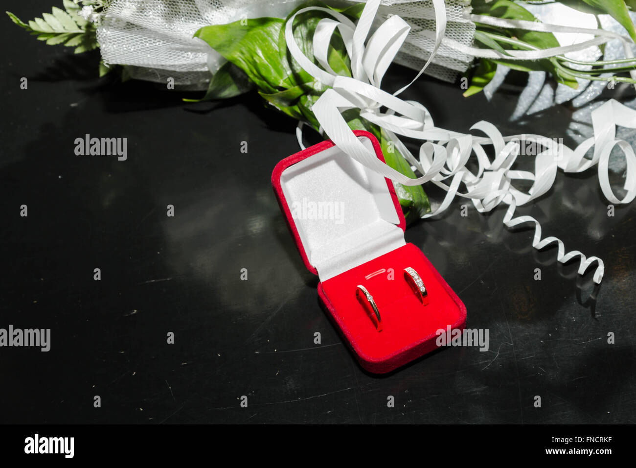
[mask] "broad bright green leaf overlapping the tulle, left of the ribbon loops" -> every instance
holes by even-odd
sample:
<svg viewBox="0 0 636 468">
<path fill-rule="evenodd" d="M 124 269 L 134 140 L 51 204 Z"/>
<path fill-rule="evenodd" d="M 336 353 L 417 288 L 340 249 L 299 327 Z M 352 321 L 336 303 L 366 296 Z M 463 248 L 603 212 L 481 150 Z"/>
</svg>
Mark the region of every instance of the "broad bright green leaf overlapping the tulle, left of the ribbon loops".
<svg viewBox="0 0 636 468">
<path fill-rule="evenodd" d="M 287 76 L 278 59 L 277 43 L 282 23 L 280 18 L 239 20 L 202 27 L 194 36 L 242 69 L 263 92 L 273 93 L 284 84 Z"/>
</svg>

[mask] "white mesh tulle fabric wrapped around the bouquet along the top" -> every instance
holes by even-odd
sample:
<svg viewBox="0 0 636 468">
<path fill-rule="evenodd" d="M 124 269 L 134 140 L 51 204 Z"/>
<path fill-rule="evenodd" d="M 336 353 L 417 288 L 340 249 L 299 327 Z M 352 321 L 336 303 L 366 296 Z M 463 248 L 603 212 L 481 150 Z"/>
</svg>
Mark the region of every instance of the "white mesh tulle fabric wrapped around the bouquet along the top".
<svg viewBox="0 0 636 468">
<path fill-rule="evenodd" d="M 102 59 L 107 64 L 128 67 L 133 78 L 175 84 L 188 89 L 206 89 L 225 59 L 207 44 L 193 38 L 200 27 L 226 24 L 241 18 L 286 17 L 305 0 L 113 0 L 97 28 Z M 363 0 L 339 0 L 340 6 Z M 390 15 L 400 15 L 411 26 L 395 61 L 420 69 L 435 46 L 428 34 L 435 29 L 431 0 L 384 0 L 377 24 Z M 466 1 L 447 0 L 446 36 L 463 46 L 473 43 L 475 25 L 466 14 Z M 446 45 L 439 48 L 427 73 L 446 81 L 455 80 L 474 57 Z"/>
</svg>

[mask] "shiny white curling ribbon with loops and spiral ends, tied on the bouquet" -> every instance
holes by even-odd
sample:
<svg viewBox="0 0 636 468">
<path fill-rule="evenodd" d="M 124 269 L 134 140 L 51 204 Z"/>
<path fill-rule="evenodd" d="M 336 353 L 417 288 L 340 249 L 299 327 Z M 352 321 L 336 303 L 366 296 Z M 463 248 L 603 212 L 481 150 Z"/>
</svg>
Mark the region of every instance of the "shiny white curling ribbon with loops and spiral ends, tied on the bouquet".
<svg viewBox="0 0 636 468">
<path fill-rule="evenodd" d="M 616 139 L 616 125 L 636 128 L 636 111 L 613 99 L 602 104 L 591 113 L 594 136 L 583 141 L 574 150 L 567 146 L 557 145 L 551 139 L 532 135 L 531 138 L 536 139 L 545 148 L 535 158 L 534 172 L 512 169 L 520 153 L 520 147 L 515 140 L 528 138 L 528 135 L 504 137 L 495 125 L 483 120 L 474 124 L 471 127 L 471 131 L 481 132 L 485 136 L 474 136 L 472 134 L 440 129 L 434 126 L 431 114 L 422 104 L 414 101 L 403 101 L 397 97 L 400 92 L 423 73 L 424 69 L 431 63 L 434 53 L 431 54 L 424 67 L 409 85 L 394 94 L 389 94 L 380 89 L 384 73 L 404 43 L 410 27 L 402 18 L 394 15 L 380 25 L 373 36 L 366 41 L 379 4 L 380 0 L 370 0 L 364 7 L 357 25 L 337 11 L 320 7 L 303 8 L 296 12 L 286 24 L 287 47 L 293 58 L 316 80 L 331 87 L 324 91 L 312 107 L 315 117 L 321 124 L 321 130 L 343 152 L 378 174 L 382 174 L 403 185 L 420 185 L 425 182 L 431 182 L 446 190 L 446 195 L 438 208 L 422 216 L 422 218 L 429 218 L 442 213 L 450 206 L 453 199 L 455 199 L 455 195 L 471 199 L 480 213 L 491 211 L 499 204 L 507 204 L 508 209 L 503 220 L 506 227 L 512 228 L 524 223 L 534 223 L 535 232 L 532 240 L 534 248 L 539 250 L 551 243 L 556 243 L 558 246 L 557 260 L 559 262 L 565 263 L 575 257 L 579 257 L 581 263 L 578 274 L 584 274 L 588 267 L 592 264 L 597 264 L 593 281 L 600 283 L 605 269 L 601 259 L 598 257 L 588 258 L 577 250 L 565 252 L 565 246 L 560 239 L 553 236 L 541 237 L 541 225 L 535 218 L 532 216 L 514 217 L 515 209 L 517 206 L 527 204 L 550 190 L 555 181 L 558 168 L 566 173 L 581 172 L 595 164 L 598 164 L 598 181 L 605 197 L 612 203 L 628 203 L 632 201 L 636 197 L 636 157 L 633 148 L 626 141 Z M 444 37 L 446 25 L 444 1 L 433 0 L 432 4 L 436 17 L 433 50 L 438 50 L 442 43 L 457 45 Z M 294 18 L 296 15 L 309 10 L 324 11 L 334 18 L 322 19 L 317 25 L 316 34 L 314 35 L 314 53 L 322 68 L 315 65 L 301 52 L 293 38 Z M 600 30 L 569 28 L 534 22 L 514 22 L 513 20 L 499 20 L 489 17 L 471 17 L 471 19 L 493 25 L 504 25 L 504 27 L 523 27 L 532 31 L 592 32 L 597 36 L 591 41 L 578 45 L 553 48 L 550 50 L 550 55 L 554 55 L 555 52 L 571 52 L 583 46 L 598 45 L 610 39 L 625 39 L 614 32 Z M 352 77 L 339 76 L 333 73 L 333 70 L 328 65 L 328 45 L 331 35 L 336 29 L 340 31 L 345 41 L 347 53 L 350 55 Z M 481 56 L 485 56 L 484 54 L 487 53 L 499 54 L 497 51 L 485 51 L 477 48 L 466 48 L 463 45 L 459 46 L 461 50 L 473 55 L 479 55 L 479 53 L 481 53 Z M 506 58 L 539 59 L 546 54 L 545 51 L 541 50 L 511 51 L 510 53 L 514 57 L 506 56 Z M 628 46 L 625 46 L 625 53 L 628 57 L 632 56 Z M 404 155 L 413 169 L 423 175 L 414 179 L 405 176 L 380 161 L 375 153 L 367 150 L 351 131 L 341 114 L 344 110 L 354 108 L 360 110 L 361 117 L 382 127 L 387 132 L 388 138 L 394 141 L 397 150 Z M 380 110 L 384 108 L 386 110 L 381 112 Z M 303 146 L 301 125 L 299 125 L 296 134 L 300 145 Z M 399 139 L 399 136 L 425 140 L 425 143 L 420 146 L 418 158 L 411 154 Z M 484 150 L 483 145 L 493 146 L 495 157 L 492 161 Z M 594 146 L 593 157 L 585 159 L 585 153 L 592 146 Z M 614 146 L 619 146 L 623 150 L 627 162 L 624 185 L 626 195 L 622 200 L 619 200 L 614 195 L 609 184 L 608 162 Z M 466 167 L 473 155 L 476 157 L 478 166 L 474 174 Z M 524 193 L 512 186 L 511 182 L 513 180 L 532 181 L 532 187 L 527 193 Z M 464 185 L 465 192 L 459 191 L 461 185 Z"/>
</svg>

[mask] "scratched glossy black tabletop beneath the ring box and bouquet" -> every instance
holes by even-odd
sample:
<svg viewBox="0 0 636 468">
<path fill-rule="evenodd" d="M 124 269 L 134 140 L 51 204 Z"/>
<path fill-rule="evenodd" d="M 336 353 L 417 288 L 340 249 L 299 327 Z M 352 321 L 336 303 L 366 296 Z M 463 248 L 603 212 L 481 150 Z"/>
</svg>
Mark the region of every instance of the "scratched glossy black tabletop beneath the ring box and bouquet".
<svg viewBox="0 0 636 468">
<path fill-rule="evenodd" d="M 29 18 L 48 10 L 12 8 Z M 596 302 L 591 274 L 579 290 L 577 264 L 556 265 L 556 248 L 533 250 L 533 230 L 506 230 L 503 209 L 462 217 L 456 200 L 406 240 L 464 301 L 468 327 L 490 330 L 490 350 L 450 348 L 372 376 L 319 305 L 272 193 L 273 166 L 298 150 L 293 120 L 253 95 L 192 106 L 148 83 L 97 80 L 94 60 L 3 24 L 0 327 L 50 328 L 52 349 L 0 348 L 0 422 L 636 421 L 635 205 L 608 217 L 595 171 L 559 173 L 518 213 L 604 259 Z M 387 89 L 412 73 L 396 67 Z M 487 103 L 424 78 L 404 96 L 441 127 L 467 131 L 483 118 L 504 134 L 565 137 L 567 104 L 508 122 L 518 91 Z M 633 99 L 633 89 L 611 96 Z M 128 138 L 128 159 L 74 155 L 86 133 Z"/>
</svg>

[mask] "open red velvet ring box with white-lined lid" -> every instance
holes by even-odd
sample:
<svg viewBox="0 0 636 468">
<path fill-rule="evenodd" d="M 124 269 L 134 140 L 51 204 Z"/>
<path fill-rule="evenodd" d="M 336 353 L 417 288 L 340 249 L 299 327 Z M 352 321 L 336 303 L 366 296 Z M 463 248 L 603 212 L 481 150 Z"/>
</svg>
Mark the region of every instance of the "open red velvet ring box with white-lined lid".
<svg viewBox="0 0 636 468">
<path fill-rule="evenodd" d="M 354 133 L 384 162 L 375 136 Z M 404 241 L 391 180 L 323 141 L 280 161 L 272 185 L 305 266 L 320 279 L 318 295 L 364 369 L 392 371 L 435 350 L 439 330 L 464 329 L 462 301 L 424 253 Z M 404 276 L 406 267 L 424 281 L 427 305 Z M 382 331 L 357 285 L 375 299 Z"/>
</svg>

